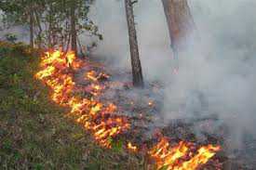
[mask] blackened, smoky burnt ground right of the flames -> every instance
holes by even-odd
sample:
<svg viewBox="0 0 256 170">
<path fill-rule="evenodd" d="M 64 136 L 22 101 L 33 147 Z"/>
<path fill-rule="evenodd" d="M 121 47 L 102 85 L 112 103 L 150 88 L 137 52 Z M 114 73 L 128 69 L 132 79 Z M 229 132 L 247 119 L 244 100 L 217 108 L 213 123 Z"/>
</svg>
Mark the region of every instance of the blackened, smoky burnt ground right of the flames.
<svg viewBox="0 0 256 170">
<path fill-rule="evenodd" d="M 165 101 L 164 85 L 159 82 L 146 82 L 143 89 L 134 89 L 129 72 L 122 72 L 112 67 L 105 68 L 97 59 L 90 59 L 88 62 L 90 62 L 89 66 L 76 74 L 76 82 L 80 85 L 88 85 L 88 82 L 83 79 L 84 72 L 94 70 L 110 75 L 106 82 L 118 83 L 107 85 L 109 87 L 101 98 L 116 103 L 121 108 L 121 114 L 130 117 L 133 131 L 127 137 L 132 143 L 136 145 L 151 143 L 155 139 L 155 130 L 158 130 L 177 142 L 189 141 L 198 145 L 220 144 L 222 151 L 218 152 L 214 158 L 221 162 L 220 169 L 254 170 L 256 168 L 256 138 L 249 133 L 244 134 L 240 147 L 232 150 L 230 146 L 233 143 L 233 137 L 230 136 L 230 129 L 217 114 L 209 113 L 207 116 L 192 119 L 174 119 L 166 124 L 159 114 Z M 210 163 L 201 169 L 218 169 L 217 166 L 214 167 L 218 163 Z"/>
</svg>

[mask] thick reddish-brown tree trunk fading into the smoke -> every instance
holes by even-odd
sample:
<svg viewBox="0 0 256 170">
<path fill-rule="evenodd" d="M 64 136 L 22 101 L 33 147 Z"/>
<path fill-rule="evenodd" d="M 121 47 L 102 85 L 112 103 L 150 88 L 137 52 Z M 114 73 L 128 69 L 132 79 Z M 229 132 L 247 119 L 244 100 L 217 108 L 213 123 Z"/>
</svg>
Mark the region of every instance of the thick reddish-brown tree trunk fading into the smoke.
<svg viewBox="0 0 256 170">
<path fill-rule="evenodd" d="M 171 47 L 175 58 L 187 47 L 187 40 L 195 35 L 195 22 L 187 0 L 162 0 Z"/>
</svg>

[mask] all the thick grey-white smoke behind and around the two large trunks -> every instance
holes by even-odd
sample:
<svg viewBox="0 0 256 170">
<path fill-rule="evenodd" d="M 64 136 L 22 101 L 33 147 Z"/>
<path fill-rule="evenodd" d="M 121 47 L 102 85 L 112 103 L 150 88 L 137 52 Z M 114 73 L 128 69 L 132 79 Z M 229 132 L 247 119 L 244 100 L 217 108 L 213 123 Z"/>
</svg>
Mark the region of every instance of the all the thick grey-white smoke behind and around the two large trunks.
<svg viewBox="0 0 256 170">
<path fill-rule="evenodd" d="M 104 2 L 98 0 L 91 12 L 104 36 L 95 55 L 129 70 L 124 2 Z M 200 40 L 192 40 L 179 58 L 178 74 L 172 73 L 176 61 L 161 1 L 135 5 L 144 78 L 166 84 L 165 120 L 217 113 L 241 142 L 244 132 L 255 135 L 256 128 L 256 2 L 189 0 L 189 5 Z"/>
</svg>

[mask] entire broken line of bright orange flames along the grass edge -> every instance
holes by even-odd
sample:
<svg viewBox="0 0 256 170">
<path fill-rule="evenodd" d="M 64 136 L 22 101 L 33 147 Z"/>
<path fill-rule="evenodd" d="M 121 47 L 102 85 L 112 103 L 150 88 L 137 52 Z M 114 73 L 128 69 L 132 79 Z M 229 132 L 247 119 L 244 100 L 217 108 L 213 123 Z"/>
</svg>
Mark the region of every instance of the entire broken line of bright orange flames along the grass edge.
<svg viewBox="0 0 256 170">
<path fill-rule="evenodd" d="M 51 90 L 51 98 L 61 106 L 70 107 L 70 116 L 74 117 L 78 124 L 92 133 L 94 139 L 105 148 L 112 148 L 113 138 L 124 134 L 131 129 L 127 116 L 118 115 L 117 106 L 114 103 L 96 99 L 101 95 L 104 85 L 99 83 L 101 77 L 107 74 L 97 74 L 94 71 L 87 72 L 86 78 L 90 82 L 88 91 L 92 94 L 90 98 L 75 96 L 81 88 L 74 83 L 73 69 L 78 69 L 82 62 L 75 59 L 73 52 L 64 54 L 61 50 L 47 52 L 42 58 L 42 70 L 35 77 L 42 80 Z M 149 101 L 149 106 L 154 105 Z M 139 152 L 140 147 L 126 141 L 127 149 Z M 171 146 L 166 137 L 148 151 L 148 155 L 155 160 L 157 169 L 194 170 L 200 165 L 208 163 L 220 147 L 212 145 L 203 146 L 197 151 L 191 150 L 191 144 L 181 141 L 177 146 Z"/>
</svg>

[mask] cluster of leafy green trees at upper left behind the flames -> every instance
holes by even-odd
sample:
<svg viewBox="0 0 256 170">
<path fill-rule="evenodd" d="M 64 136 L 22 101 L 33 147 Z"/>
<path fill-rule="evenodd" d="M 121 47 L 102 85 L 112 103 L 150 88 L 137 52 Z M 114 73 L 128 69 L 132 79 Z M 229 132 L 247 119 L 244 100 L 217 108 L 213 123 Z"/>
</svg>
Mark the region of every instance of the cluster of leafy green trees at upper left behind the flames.
<svg viewBox="0 0 256 170">
<path fill-rule="evenodd" d="M 33 47 L 62 46 L 77 52 L 79 33 L 88 31 L 101 39 L 98 27 L 88 19 L 94 0 L 0 0 L 7 27 L 29 27 Z M 70 46 L 71 44 L 71 46 Z"/>
</svg>

